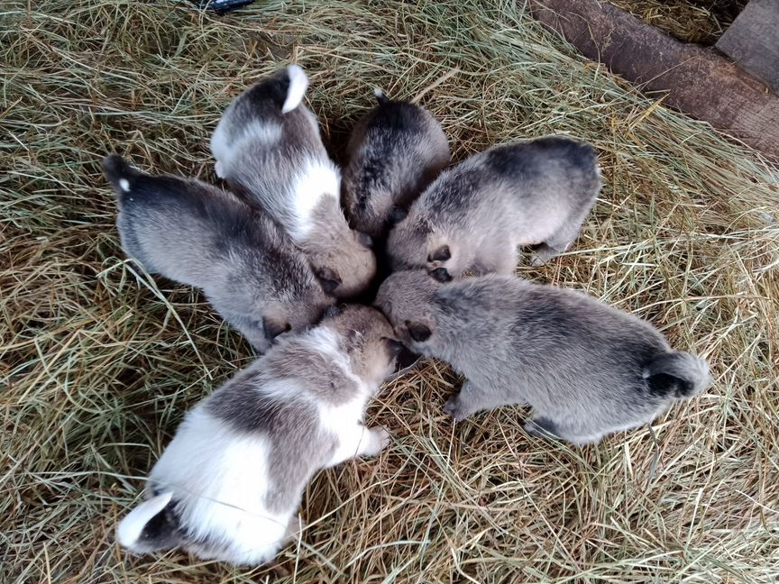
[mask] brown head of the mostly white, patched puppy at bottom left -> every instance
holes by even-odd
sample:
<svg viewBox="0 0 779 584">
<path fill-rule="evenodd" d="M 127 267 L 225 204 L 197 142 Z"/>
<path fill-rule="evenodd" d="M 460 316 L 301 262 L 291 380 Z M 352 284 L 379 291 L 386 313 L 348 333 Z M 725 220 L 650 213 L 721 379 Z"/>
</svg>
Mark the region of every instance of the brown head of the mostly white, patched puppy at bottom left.
<svg viewBox="0 0 779 584">
<path fill-rule="evenodd" d="M 340 348 L 349 356 L 353 372 L 369 385 L 378 388 L 395 370 L 403 346 L 388 320 L 375 308 L 345 305 L 331 309 L 322 324 L 338 334 Z"/>
</svg>

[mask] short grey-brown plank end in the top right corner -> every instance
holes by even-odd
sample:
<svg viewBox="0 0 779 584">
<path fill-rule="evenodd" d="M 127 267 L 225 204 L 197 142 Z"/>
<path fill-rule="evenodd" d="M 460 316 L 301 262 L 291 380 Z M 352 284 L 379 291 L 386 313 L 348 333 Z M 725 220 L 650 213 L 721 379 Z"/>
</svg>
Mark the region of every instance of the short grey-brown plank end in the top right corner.
<svg viewBox="0 0 779 584">
<path fill-rule="evenodd" d="M 751 0 L 717 48 L 779 91 L 779 0 Z"/>
</svg>

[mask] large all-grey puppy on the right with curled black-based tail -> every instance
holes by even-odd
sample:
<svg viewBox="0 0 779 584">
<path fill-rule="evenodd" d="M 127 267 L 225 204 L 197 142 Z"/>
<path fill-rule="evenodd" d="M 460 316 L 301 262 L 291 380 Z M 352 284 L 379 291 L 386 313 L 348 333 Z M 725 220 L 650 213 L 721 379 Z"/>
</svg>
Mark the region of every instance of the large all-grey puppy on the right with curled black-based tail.
<svg viewBox="0 0 779 584">
<path fill-rule="evenodd" d="M 710 383 L 705 360 L 673 351 L 651 324 L 573 290 L 497 274 L 442 284 L 412 270 L 386 279 L 376 305 L 412 351 L 465 376 L 444 407 L 458 421 L 529 404 L 528 432 L 597 443 Z"/>
</svg>

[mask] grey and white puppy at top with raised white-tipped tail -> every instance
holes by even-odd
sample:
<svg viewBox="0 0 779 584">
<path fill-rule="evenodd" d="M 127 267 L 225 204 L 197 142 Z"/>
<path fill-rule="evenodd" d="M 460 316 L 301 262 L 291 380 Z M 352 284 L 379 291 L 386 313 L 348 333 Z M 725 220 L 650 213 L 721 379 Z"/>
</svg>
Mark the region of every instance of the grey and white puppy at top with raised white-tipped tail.
<svg viewBox="0 0 779 584">
<path fill-rule="evenodd" d="M 371 238 L 346 223 L 340 172 L 301 103 L 307 87 L 303 69 L 290 65 L 236 97 L 211 138 L 216 174 L 281 225 L 328 293 L 354 297 L 376 258 Z"/>
</svg>

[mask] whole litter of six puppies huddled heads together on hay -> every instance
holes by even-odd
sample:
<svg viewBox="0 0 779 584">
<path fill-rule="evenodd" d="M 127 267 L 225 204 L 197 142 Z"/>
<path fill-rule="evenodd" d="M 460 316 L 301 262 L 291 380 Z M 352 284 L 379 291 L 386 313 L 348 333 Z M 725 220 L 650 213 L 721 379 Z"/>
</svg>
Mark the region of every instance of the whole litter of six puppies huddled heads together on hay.
<svg viewBox="0 0 779 584">
<path fill-rule="evenodd" d="M 456 421 L 529 404 L 528 433 L 575 444 L 649 423 L 709 385 L 706 361 L 646 321 L 513 275 L 518 246 L 536 245 L 537 265 L 578 236 L 600 189 L 590 145 L 547 136 L 444 169 L 435 119 L 377 94 L 342 184 L 302 105 L 307 84 L 291 65 L 227 108 L 211 148 L 228 191 L 104 161 L 127 255 L 202 288 L 264 353 L 189 412 L 119 525 L 124 547 L 271 561 L 300 531 L 317 470 L 388 445 L 362 414 L 404 344 L 466 377 L 445 406 Z M 374 252 L 395 271 L 375 308 L 335 307 L 370 289 Z"/>
</svg>

